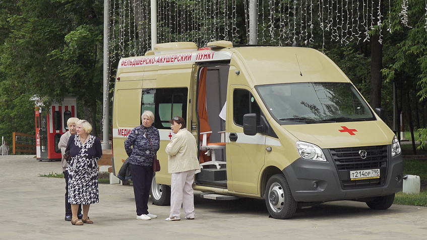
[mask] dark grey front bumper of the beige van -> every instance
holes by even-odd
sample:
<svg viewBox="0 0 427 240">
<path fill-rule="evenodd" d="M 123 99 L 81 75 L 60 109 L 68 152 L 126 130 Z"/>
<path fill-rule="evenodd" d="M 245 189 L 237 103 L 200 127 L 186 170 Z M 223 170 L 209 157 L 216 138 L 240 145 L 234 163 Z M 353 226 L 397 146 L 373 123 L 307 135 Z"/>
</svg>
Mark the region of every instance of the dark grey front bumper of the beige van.
<svg viewBox="0 0 427 240">
<path fill-rule="evenodd" d="M 388 146 L 390 149 L 390 146 Z M 390 151 L 388 151 L 390 153 Z M 387 165 L 381 169 L 381 181 L 372 185 L 346 187 L 350 182 L 349 171 L 358 169 L 338 170 L 337 164 L 329 150 L 324 150 L 326 162 L 298 158 L 283 169 L 292 196 L 297 202 L 327 202 L 336 200 L 357 200 L 386 196 L 402 191 L 403 157 L 399 154 L 391 157 L 388 154 Z M 384 174 L 386 174 L 384 176 Z M 373 179 L 374 180 L 374 179 Z M 360 180 L 355 180 L 360 181 Z M 351 183 L 350 182 L 350 183 Z M 359 182 L 361 183 L 361 182 Z"/>
</svg>

